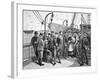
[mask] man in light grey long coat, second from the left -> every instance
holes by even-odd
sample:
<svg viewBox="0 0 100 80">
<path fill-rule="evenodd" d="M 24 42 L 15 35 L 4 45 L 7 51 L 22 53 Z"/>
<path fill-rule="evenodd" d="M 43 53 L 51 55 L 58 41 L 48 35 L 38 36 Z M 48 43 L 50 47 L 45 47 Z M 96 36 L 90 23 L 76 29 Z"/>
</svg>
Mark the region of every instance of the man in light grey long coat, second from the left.
<svg viewBox="0 0 100 80">
<path fill-rule="evenodd" d="M 43 50 L 44 50 L 44 42 L 43 42 L 43 35 L 40 33 L 39 38 L 37 40 L 38 42 L 38 63 L 40 66 L 44 65 L 42 64 L 42 58 L 43 58 Z"/>
</svg>

